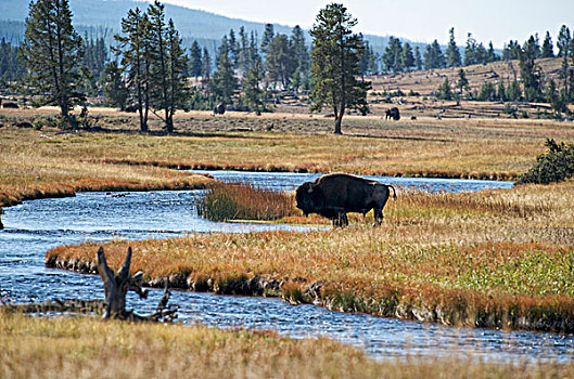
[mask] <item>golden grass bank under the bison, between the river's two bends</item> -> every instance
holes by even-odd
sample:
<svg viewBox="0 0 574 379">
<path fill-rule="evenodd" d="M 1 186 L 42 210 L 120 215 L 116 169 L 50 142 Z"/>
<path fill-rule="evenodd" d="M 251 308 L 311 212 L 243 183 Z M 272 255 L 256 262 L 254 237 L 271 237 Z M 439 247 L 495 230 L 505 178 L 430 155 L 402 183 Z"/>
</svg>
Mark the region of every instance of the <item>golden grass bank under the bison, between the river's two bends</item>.
<svg viewBox="0 0 574 379">
<path fill-rule="evenodd" d="M 235 284 L 262 277 L 282 283 L 268 295 L 337 311 L 572 331 L 573 212 L 573 182 L 470 194 L 403 191 L 385 208 L 382 227 L 355 217 L 352 227 L 329 232 L 104 246 L 116 265 L 132 246 L 133 270 L 152 283 L 171 277 L 183 288 L 233 293 Z M 88 262 L 95 250 L 91 243 L 59 247 L 47 261 Z"/>
</svg>

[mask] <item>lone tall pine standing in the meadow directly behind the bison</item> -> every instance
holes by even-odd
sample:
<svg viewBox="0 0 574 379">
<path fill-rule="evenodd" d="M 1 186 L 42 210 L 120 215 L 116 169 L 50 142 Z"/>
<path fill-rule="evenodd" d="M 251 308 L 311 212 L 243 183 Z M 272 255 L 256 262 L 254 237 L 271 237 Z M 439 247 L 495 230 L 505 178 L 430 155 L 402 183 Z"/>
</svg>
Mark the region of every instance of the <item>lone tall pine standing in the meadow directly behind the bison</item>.
<svg viewBox="0 0 574 379">
<path fill-rule="evenodd" d="M 367 114 L 367 91 L 371 83 L 358 81 L 359 60 L 365 44 L 353 34 L 357 19 L 342 4 L 332 3 L 319 11 L 311 29 L 314 88 L 311 110 L 330 106 L 335 115 L 334 133 L 341 134 L 341 122 L 348 108 Z"/>
</svg>

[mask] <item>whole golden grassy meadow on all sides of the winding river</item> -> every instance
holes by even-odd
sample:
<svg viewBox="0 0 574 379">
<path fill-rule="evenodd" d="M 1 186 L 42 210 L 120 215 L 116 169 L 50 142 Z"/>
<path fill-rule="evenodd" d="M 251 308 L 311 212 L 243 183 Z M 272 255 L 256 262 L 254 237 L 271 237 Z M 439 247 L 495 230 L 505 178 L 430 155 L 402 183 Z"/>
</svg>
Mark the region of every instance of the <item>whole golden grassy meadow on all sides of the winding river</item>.
<svg viewBox="0 0 574 379">
<path fill-rule="evenodd" d="M 13 126 L 35 125 L 53 112 L 1 110 L 0 206 L 78 191 L 213 184 L 209 178 L 177 168 L 514 179 L 545 152 L 546 138 L 574 143 L 572 123 L 533 119 L 420 117 L 394 122 L 380 116 L 349 116 L 344 119 L 345 134 L 335 136 L 332 120 L 323 116 L 213 117 L 194 112 L 178 114 L 176 134 L 163 135 L 160 122 L 152 122 L 152 133 L 140 134 L 133 115 L 93 109 L 100 131 Z M 204 235 L 129 245 L 135 249 L 132 269 L 144 271 L 153 286 L 169 277 L 186 289 L 240 293 L 246 280 L 256 278 L 262 292 L 252 295 L 279 296 L 292 303 L 448 325 L 565 331 L 574 325 L 573 205 L 572 181 L 473 194 L 400 188 L 397 200 L 387 204 L 381 227 L 373 228 L 368 215 L 352 218 L 352 225 L 343 230 Z M 283 221 L 324 224 L 322 219 L 301 215 Z M 120 240 L 104 244 L 111 265 L 119 264 L 127 246 Z M 90 271 L 95 250 L 93 244 L 59 247 L 47 253 L 47 262 Z M 46 377 L 67 369 L 78 377 L 97 369 L 143 377 L 137 369 L 142 362 L 152 362 L 142 367 L 162 377 L 167 374 L 154 367 L 169 365 L 181 374 L 190 361 L 206 377 L 286 377 L 306 373 L 310 365 L 315 370 L 309 377 L 571 374 L 570 366 L 540 363 L 379 364 L 331 341 L 291 341 L 258 332 L 115 323 L 102 328 L 91 319 L 0 317 L 5 336 L 0 343 L 10 352 L 2 354 L 0 373 L 8 377 L 35 376 L 40 369 Z M 93 344 L 85 340 L 85 332 L 93 336 Z M 61 343 L 61 349 L 52 349 L 47 340 Z M 117 364 L 106 366 L 106 360 Z M 229 367 L 238 371 L 230 373 Z"/>
</svg>

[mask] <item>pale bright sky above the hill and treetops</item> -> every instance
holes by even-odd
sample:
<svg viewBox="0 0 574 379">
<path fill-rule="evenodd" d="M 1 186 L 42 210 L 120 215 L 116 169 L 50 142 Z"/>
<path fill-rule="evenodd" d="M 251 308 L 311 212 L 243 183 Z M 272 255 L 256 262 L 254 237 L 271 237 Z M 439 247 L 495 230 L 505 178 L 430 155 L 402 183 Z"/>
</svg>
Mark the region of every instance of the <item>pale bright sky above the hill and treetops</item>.
<svg viewBox="0 0 574 379">
<path fill-rule="evenodd" d="M 217 14 L 256 22 L 271 22 L 310 28 L 317 12 L 333 1 L 321 0 L 164 0 Z M 340 1 L 341 2 L 341 1 Z M 458 44 L 467 34 L 482 42 L 502 48 L 510 39 L 520 43 L 531 34 L 540 40 L 546 30 L 552 41 L 561 25 L 574 29 L 574 0 L 348 0 L 342 1 L 358 18 L 356 31 L 379 36 L 398 36 L 418 42 L 448 41 L 455 27 Z"/>
</svg>

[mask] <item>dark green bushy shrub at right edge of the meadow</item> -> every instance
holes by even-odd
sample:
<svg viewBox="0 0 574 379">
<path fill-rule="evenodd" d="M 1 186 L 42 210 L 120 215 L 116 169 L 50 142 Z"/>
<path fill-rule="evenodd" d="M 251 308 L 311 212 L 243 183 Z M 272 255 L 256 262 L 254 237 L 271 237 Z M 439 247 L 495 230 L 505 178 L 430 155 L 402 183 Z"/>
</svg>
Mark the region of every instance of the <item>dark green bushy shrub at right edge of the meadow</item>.
<svg viewBox="0 0 574 379">
<path fill-rule="evenodd" d="M 574 145 L 566 146 L 563 142 L 558 144 L 546 139 L 545 146 L 548 153 L 537 156 L 534 167 L 521 174 L 516 184 L 549 184 L 574 177 Z"/>
</svg>

